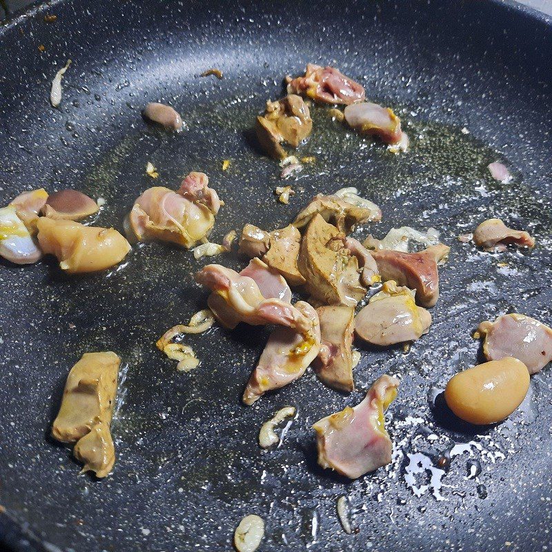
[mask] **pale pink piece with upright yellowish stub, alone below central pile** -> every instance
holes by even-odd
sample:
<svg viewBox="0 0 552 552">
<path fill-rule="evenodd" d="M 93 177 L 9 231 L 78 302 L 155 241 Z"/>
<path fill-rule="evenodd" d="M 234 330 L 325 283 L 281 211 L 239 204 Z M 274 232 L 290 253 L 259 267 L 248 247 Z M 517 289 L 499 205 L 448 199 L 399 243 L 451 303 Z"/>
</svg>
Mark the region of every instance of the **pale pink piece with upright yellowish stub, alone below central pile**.
<svg viewBox="0 0 552 552">
<path fill-rule="evenodd" d="M 384 427 L 384 412 L 398 386 L 395 377 L 382 375 L 360 404 L 313 425 L 320 466 L 356 479 L 391 462 L 393 443 Z"/>
</svg>

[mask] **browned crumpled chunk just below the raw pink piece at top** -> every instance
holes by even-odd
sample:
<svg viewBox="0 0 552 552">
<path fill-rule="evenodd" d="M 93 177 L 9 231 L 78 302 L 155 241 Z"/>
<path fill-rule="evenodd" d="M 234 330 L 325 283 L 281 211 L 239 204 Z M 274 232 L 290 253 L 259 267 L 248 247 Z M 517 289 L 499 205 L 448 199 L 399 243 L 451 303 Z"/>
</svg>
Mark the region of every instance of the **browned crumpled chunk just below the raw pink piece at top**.
<svg viewBox="0 0 552 552">
<path fill-rule="evenodd" d="M 297 148 L 311 134 L 313 121 L 303 99 L 290 94 L 277 101 L 267 101 L 264 115 L 257 117 L 257 138 L 266 154 L 284 159 L 283 146 Z"/>
</svg>

